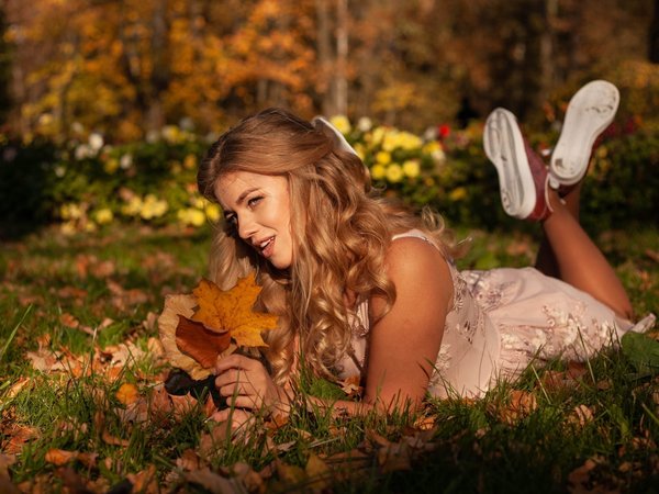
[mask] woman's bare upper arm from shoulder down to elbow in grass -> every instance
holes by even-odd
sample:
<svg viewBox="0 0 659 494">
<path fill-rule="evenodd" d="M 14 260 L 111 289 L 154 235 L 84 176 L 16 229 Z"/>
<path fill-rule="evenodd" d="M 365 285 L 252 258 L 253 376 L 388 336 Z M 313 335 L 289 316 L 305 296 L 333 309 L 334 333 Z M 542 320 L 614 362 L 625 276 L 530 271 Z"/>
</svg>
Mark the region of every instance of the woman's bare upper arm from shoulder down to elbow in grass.
<svg viewBox="0 0 659 494">
<path fill-rule="evenodd" d="M 371 325 L 365 401 L 384 409 L 413 407 L 424 398 L 432 375 L 449 303 L 453 279 L 446 260 L 426 240 L 406 237 L 391 244 L 387 273 L 395 301 L 370 303 Z"/>
</svg>

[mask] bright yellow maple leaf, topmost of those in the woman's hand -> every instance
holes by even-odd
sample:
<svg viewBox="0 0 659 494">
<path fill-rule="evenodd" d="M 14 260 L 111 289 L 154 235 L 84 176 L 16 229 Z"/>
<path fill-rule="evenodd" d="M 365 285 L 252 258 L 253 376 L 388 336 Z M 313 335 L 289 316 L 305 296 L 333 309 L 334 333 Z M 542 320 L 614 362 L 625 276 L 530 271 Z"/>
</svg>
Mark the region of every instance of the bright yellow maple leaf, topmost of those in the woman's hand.
<svg viewBox="0 0 659 494">
<path fill-rule="evenodd" d="M 199 305 L 192 319 L 215 330 L 228 330 L 238 346 L 264 347 L 261 330 L 276 328 L 277 316 L 253 311 L 260 290 L 254 273 L 227 291 L 220 290 L 212 281 L 201 280 L 192 291 Z"/>
</svg>

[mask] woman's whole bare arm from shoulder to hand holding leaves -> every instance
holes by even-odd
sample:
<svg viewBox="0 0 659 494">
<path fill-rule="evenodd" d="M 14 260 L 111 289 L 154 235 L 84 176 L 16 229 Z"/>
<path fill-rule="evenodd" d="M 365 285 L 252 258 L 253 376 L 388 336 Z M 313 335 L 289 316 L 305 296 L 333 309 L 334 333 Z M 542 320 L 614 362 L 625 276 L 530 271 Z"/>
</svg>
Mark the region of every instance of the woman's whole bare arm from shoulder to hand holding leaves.
<svg viewBox="0 0 659 494">
<path fill-rule="evenodd" d="M 453 300 L 450 271 L 434 246 L 410 237 L 392 243 L 387 273 L 395 287 L 396 299 L 379 319 L 386 302 L 381 297 L 370 301 L 371 321 L 377 323 L 369 332 L 364 401 L 311 398 L 312 405 L 332 406 L 338 414 L 361 415 L 373 407 L 390 411 L 407 403 L 417 406 L 424 398 Z M 235 406 L 254 409 L 265 405 L 271 412 L 288 412 L 291 391 L 277 386 L 260 362 L 231 356 L 217 361 L 216 371 L 215 385 Z M 225 420 L 228 414 L 228 409 L 219 412 L 216 418 Z"/>
</svg>

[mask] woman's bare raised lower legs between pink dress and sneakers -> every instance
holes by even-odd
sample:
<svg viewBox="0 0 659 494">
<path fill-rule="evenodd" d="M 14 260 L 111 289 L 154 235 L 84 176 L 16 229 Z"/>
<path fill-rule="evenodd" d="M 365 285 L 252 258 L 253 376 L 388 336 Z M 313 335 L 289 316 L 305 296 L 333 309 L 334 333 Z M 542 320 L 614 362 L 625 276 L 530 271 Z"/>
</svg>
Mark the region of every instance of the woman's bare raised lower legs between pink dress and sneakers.
<svg viewBox="0 0 659 494">
<path fill-rule="evenodd" d="M 615 271 L 579 223 L 580 186 L 563 201 L 558 192 L 549 190 L 554 213 L 543 222 L 546 258 L 554 258 L 558 278 L 590 293 L 610 306 L 618 316 L 630 319 L 629 297 Z"/>
</svg>

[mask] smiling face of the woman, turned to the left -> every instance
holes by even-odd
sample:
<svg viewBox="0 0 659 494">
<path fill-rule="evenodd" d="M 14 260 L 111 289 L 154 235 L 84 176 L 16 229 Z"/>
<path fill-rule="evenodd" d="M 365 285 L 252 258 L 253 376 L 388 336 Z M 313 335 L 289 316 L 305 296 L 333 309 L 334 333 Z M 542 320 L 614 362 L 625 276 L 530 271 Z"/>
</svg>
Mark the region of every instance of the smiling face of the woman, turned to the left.
<svg viewBox="0 0 659 494">
<path fill-rule="evenodd" d="M 293 242 L 286 177 L 235 171 L 217 180 L 215 195 L 243 240 L 276 268 L 290 268 Z"/>
</svg>

